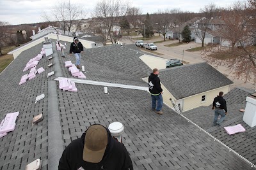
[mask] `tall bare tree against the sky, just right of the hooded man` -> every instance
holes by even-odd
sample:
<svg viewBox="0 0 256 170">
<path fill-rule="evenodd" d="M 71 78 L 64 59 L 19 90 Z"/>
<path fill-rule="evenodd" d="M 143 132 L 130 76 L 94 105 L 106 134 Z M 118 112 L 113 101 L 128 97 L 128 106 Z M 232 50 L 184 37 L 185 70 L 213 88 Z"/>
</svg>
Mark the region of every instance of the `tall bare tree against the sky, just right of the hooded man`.
<svg viewBox="0 0 256 170">
<path fill-rule="evenodd" d="M 97 3 L 93 10 L 93 16 L 99 18 L 101 21 L 99 28 L 105 39 L 103 45 L 106 45 L 108 38 L 111 43 L 116 43 L 118 39 L 118 35 L 116 34 L 118 32 L 116 30 L 118 23 L 120 22 L 120 18 L 126 15 L 128 9 L 129 3 L 122 0 L 100 0 Z"/>
</svg>

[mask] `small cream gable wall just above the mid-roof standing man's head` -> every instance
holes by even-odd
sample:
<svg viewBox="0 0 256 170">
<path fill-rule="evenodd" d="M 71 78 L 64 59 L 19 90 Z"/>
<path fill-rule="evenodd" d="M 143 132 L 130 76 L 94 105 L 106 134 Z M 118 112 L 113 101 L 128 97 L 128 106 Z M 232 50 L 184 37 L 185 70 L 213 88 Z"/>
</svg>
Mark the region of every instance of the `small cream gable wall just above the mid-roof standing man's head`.
<svg viewBox="0 0 256 170">
<path fill-rule="evenodd" d="M 142 55 L 140 57 L 141 60 L 143 60 L 143 62 L 145 62 L 145 64 L 147 64 L 148 67 L 150 67 L 150 69 L 166 69 L 166 60 L 167 59 L 162 59 L 160 57 L 154 57 L 152 55 Z"/>
</svg>

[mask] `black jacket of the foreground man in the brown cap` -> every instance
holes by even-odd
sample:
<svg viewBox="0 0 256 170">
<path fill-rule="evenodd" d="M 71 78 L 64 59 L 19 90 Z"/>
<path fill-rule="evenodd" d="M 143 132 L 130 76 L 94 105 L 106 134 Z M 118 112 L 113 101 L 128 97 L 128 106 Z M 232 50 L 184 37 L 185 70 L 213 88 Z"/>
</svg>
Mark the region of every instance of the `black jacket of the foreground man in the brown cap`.
<svg viewBox="0 0 256 170">
<path fill-rule="evenodd" d="M 77 170 L 83 167 L 84 170 L 133 170 L 132 161 L 124 144 L 112 138 L 108 131 L 108 145 L 103 159 L 99 163 L 91 163 L 83 160 L 84 138 L 72 141 L 62 153 L 59 170 Z M 82 168 L 81 168 L 82 169 Z"/>
</svg>

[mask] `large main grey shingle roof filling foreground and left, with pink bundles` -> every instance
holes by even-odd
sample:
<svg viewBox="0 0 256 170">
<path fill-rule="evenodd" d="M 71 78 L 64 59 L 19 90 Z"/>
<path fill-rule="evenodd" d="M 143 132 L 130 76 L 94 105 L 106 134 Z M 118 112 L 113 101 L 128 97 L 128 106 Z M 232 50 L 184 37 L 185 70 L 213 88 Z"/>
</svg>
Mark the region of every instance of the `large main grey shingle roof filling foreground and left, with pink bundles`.
<svg viewBox="0 0 256 170">
<path fill-rule="evenodd" d="M 104 94 L 102 86 L 82 83 L 76 83 L 78 92 L 59 90 L 54 78 L 70 77 L 63 61 L 71 59 L 74 63 L 68 52 L 61 58 L 60 52 L 52 48 L 53 59 L 44 57 L 37 66 L 45 71 L 19 85 L 21 76 L 27 73 L 22 72 L 26 63 L 41 48 L 42 45 L 36 45 L 20 53 L 0 74 L 1 119 L 6 113 L 20 111 L 15 130 L 0 139 L 0 169 L 25 169 L 38 158 L 42 159 L 42 169 L 57 169 L 65 146 L 90 125 L 108 126 L 116 121 L 124 124 L 123 143 L 134 169 L 251 169 L 244 160 L 167 106 L 163 106 L 164 115 L 150 111 L 151 98 L 145 90 L 109 87 L 109 94 Z M 87 78 L 147 86 L 138 79 L 148 69 L 136 60 L 137 53 L 125 55 L 130 49 L 128 45 L 86 49 L 81 65 L 86 67 Z M 50 62 L 54 65 L 47 67 Z M 47 78 L 50 71 L 55 74 Z M 43 93 L 45 98 L 35 103 L 36 96 Z M 31 125 L 32 118 L 39 113 L 44 114 L 44 119 Z"/>
</svg>

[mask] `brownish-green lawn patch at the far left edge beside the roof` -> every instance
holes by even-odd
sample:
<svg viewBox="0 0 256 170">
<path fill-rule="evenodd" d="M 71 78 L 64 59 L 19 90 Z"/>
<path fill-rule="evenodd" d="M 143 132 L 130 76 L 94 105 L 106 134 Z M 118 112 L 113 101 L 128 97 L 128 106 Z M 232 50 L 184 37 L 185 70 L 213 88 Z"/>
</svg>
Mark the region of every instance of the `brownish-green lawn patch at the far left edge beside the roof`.
<svg viewBox="0 0 256 170">
<path fill-rule="evenodd" d="M 7 54 L 12 51 L 16 46 L 4 46 L 2 47 L 3 55 L 0 56 L 0 73 L 12 62 L 13 55 Z"/>
</svg>

